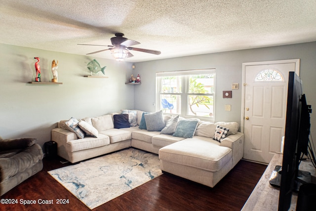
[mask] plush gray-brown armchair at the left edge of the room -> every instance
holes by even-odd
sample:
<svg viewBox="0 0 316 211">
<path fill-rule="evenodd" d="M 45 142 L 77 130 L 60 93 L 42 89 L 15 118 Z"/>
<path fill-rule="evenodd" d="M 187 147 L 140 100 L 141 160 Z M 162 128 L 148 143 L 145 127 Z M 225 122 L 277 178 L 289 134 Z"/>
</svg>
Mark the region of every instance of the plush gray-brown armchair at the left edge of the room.
<svg viewBox="0 0 316 211">
<path fill-rule="evenodd" d="M 0 196 L 43 169 L 36 138 L 0 138 Z"/>
</svg>

